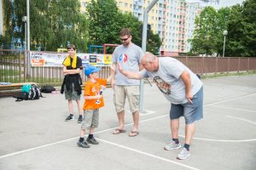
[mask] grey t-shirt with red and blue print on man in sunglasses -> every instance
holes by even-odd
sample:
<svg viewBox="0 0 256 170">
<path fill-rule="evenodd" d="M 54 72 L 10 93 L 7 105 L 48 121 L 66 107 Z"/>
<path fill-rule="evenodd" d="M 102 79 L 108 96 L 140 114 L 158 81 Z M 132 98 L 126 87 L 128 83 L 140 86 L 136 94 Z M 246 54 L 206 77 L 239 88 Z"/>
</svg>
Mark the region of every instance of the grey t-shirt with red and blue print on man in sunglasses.
<svg viewBox="0 0 256 170">
<path fill-rule="evenodd" d="M 112 55 L 112 62 L 119 63 L 125 71 L 139 71 L 139 64 L 143 58 L 143 49 L 132 43 L 128 47 L 120 45 L 115 48 Z M 140 81 L 135 79 L 129 79 L 116 69 L 115 84 L 130 86 L 139 85 Z"/>
</svg>

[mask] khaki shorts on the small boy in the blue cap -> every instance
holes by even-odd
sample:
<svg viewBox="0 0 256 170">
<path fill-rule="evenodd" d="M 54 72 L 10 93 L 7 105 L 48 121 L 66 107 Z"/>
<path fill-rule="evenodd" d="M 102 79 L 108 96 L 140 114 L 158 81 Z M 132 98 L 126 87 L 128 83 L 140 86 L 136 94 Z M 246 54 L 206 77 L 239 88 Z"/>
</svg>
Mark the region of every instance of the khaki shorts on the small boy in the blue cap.
<svg viewBox="0 0 256 170">
<path fill-rule="evenodd" d="M 96 128 L 99 126 L 99 109 L 94 110 L 85 110 L 84 119 L 81 128 L 90 129 Z"/>
</svg>

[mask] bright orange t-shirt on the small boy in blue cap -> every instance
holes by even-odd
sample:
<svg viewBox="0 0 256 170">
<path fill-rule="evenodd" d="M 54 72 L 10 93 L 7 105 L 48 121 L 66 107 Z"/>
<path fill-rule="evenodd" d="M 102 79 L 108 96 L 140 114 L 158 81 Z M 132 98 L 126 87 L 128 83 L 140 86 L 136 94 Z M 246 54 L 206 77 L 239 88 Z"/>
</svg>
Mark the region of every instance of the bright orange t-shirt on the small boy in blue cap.
<svg viewBox="0 0 256 170">
<path fill-rule="evenodd" d="M 85 88 L 84 88 L 84 96 L 96 96 L 99 95 L 101 91 L 101 85 L 106 87 L 107 79 L 96 79 L 96 82 L 91 82 L 88 80 L 86 82 Z M 98 99 L 85 99 L 84 101 L 84 110 L 93 110 L 93 109 L 99 109 L 104 106 L 104 100 L 99 99 L 100 102 L 97 104 Z"/>
</svg>

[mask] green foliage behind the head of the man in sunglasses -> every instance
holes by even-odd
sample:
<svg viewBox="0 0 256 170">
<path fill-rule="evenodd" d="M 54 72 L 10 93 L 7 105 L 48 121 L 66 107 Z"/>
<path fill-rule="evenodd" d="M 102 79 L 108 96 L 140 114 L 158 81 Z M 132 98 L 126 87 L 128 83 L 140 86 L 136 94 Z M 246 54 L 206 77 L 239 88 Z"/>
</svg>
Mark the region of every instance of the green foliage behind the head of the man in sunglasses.
<svg viewBox="0 0 256 170">
<path fill-rule="evenodd" d="M 141 46 L 141 26 L 143 23 L 131 13 L 122 14 L 114 0 L 92 0 L 87 6 L 87 14 L 90 18 L 90 44 L 119 44 L 119 31 L 127 27 L 131 30 L 132 42 Z M 150 31 L 147 51 L 158 54 L 160 45 L 159 35 Z"/>
</svg>

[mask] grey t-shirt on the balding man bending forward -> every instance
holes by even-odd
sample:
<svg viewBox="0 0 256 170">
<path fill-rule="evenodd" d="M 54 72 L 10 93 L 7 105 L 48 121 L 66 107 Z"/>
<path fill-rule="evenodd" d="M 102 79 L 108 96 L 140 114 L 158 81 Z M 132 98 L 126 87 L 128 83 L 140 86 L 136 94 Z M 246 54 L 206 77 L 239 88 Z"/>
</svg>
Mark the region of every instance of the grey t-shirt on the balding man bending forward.
<svg viewBox="0 0 256 170">
<path fill-rule="evenodd" d="M 140 73 L 143 77 L 153 77 L 162 94 L 172 104 L 184 104 L 188 102 L 185 97 L 185 85 L 180 77 L 183 71 L 189 71 L 191 79 L 191 93 L 195 95 L 202 87 L 201 80 L 177 59 L 172 57 L 159 58 L 158 71 L 143 70 Z M 171 87 L 171 88 L 170 88 Z"/>
</svg>

